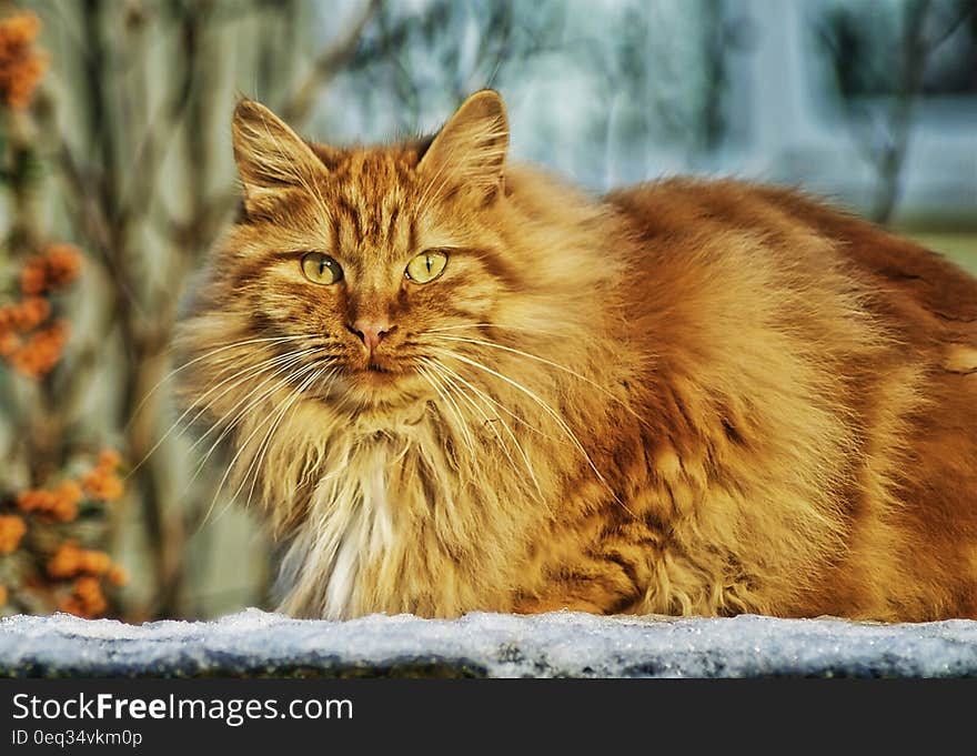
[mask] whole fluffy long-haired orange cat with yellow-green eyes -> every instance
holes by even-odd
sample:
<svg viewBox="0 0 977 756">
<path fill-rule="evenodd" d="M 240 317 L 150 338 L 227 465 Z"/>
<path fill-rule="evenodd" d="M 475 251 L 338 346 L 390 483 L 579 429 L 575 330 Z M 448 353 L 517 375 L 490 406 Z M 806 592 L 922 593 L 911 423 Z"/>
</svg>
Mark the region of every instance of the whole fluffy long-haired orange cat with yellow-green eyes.
<svg viewBox="0 0 977 756">
<path fill-rule="evenodd" d="M 180 343 L 284 612 L 977 617 L 977 281 L 793 191 L 594 198 L 239 103 Z"/>
</svg>

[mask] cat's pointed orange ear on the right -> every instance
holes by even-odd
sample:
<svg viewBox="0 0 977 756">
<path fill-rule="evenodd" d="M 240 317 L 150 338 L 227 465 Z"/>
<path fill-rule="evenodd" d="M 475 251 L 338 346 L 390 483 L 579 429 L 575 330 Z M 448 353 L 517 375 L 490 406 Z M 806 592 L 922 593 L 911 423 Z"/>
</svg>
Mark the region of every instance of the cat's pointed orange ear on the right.
<svg viewBox="0 0 977 756">
<path fill-rule="evenodd" d="M 441 129 L 417 171 L 454 178 L 461 185 L 495 195 L 508 150 L 508 119 L 498 92 L 483 89 L 465 100 Z"/>
</svg>

